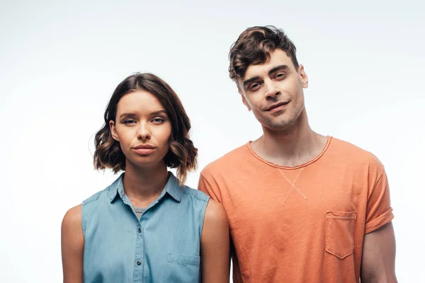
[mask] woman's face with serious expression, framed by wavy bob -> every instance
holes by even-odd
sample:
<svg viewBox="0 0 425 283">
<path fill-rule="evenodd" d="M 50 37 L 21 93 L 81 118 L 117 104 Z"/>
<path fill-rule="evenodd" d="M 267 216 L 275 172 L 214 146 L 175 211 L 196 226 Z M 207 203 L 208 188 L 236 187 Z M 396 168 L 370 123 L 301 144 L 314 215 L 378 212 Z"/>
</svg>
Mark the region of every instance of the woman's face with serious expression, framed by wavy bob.
<svg viewBox="0 0 425 283">
<path fill-rule="evenodd" d="M 171 122 L 152 93 L 134 91 L 123 96 L 109 127 L 113 139 L 120 142 L 126 166 L 154 166 L 163 162 L 169 151 Z"/>
</svg>

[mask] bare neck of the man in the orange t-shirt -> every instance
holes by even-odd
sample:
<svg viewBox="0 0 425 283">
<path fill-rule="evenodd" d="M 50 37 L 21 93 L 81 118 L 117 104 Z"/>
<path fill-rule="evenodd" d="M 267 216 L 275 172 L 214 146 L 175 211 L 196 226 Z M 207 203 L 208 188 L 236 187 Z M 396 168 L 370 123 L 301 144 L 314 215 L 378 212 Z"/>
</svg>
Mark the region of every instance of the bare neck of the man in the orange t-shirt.
<svg viewBox="0 0 425 283">
<path fill-rule="evenodd" d="M 322 152 L 327 137 L 313 132 L 307 115 L 303 116 L 288 129 L 263 127 L 263 136 L 253 141 L 251 148 L 261 158 L 280 166 L 294 167 L 311 161 Z"/>
</svg>

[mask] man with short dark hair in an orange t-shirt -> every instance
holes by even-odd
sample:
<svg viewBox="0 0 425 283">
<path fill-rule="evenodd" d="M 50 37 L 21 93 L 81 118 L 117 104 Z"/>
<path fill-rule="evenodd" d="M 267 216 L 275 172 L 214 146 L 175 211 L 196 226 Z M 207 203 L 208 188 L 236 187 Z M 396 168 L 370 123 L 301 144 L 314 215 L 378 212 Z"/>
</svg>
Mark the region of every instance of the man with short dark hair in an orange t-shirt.
<svg viewBox="0 0 425 283">
<path fill-rule="evenodd" d="M 273 26 L 248 28 L 229 60 L 263 136 L 210 163 L 199 189 L 227 212 L 234 282 L 397 282 L 384 168 L 312 131 L 293 42 Z"/>
</svg>

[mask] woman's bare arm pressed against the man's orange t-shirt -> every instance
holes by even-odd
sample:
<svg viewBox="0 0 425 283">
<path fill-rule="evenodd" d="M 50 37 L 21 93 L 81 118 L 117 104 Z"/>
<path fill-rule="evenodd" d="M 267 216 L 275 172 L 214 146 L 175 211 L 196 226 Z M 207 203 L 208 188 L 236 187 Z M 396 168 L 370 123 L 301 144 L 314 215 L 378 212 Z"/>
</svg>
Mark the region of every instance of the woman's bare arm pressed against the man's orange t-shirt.
<svg viewBox="0 0 425 283">
<path fill-rule="evenodd" d="M 211 199 L 200 237 L 200 265 L 203 283 L 229 282 L 229 222 L 222 205 Z"/>
</svg>

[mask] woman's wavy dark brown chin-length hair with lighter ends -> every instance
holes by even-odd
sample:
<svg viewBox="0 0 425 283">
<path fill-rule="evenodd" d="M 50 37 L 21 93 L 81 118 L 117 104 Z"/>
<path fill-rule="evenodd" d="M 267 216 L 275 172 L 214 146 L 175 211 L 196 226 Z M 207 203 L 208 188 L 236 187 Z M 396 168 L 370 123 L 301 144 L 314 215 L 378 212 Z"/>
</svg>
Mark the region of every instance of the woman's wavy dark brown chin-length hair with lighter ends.
<svg viewBox="0 0 425 283">
<path fill-rule="evenodd" d="M 164 157 L 164 163 L 169 168 L 177 168 L 177 178 L 183 184 L 188 171 L 196 168 L 198 149 L 189 139 L 191 121 L 181 104 L 179 97 L 171 87 L 154 74 L 134 74 L 122 81 L 109 100 L 103 119 L 105 124 L 96 133 L 93 161 L 94 168 L 111 168 L 114 173 L 125 170 L 125 155 L 121 151 L 120 143 L 113 139 L 109 121 L 115 122 L 118 102 L 128 93 L 147 91 L 152 93 L 164 106 L 171 121 L 170 149 Z"/>
</svg>

